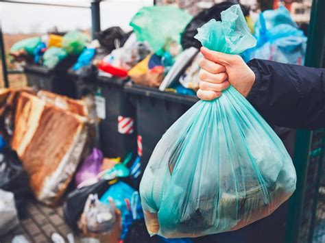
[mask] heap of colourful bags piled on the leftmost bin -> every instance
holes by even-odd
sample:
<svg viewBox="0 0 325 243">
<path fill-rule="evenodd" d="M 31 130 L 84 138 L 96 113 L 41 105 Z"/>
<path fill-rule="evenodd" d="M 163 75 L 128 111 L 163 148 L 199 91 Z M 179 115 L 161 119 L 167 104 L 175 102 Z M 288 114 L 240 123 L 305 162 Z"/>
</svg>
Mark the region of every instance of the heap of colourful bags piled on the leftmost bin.
<svg viewBox="0 0 325 243">
<path fill-rule="evenodd" d="M 82 31 L 45 34 L 16 42 L 10 49 L 10 58 L 12 62 L 56 68 L 68 57 L 75 60 L 88 42 L 88 36 Z"/>
</svg>

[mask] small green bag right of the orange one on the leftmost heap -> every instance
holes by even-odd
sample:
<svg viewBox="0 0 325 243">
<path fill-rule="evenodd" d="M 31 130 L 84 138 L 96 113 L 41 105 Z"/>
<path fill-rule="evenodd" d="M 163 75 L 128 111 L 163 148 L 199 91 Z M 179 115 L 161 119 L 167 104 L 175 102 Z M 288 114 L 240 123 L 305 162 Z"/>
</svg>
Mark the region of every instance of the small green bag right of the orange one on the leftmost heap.
<svg viewBox="0 0 325 243">
<path fill-rule="evenodd" d="M 70 55 L 79 55 L 84 51 L 89 38 L 81 31 L 69 31 L 62 38 L 62 48 Z"/>
</svg>

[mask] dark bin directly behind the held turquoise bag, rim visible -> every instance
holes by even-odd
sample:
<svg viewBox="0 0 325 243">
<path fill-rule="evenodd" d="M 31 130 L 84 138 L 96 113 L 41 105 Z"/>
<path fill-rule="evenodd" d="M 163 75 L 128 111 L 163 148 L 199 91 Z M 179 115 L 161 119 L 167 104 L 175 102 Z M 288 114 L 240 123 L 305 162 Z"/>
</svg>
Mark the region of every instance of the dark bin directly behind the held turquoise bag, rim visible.
<svg viewBox="0 0 325 243">
<path fill-rule="evenodd" d="M 125 92 L 130 94 L 132 103 L 136 105 L 138 153 L 142 155 L 144 170 L 165 131 L 199 99 L 132 83 L 125 85 Z"/>
</svg>

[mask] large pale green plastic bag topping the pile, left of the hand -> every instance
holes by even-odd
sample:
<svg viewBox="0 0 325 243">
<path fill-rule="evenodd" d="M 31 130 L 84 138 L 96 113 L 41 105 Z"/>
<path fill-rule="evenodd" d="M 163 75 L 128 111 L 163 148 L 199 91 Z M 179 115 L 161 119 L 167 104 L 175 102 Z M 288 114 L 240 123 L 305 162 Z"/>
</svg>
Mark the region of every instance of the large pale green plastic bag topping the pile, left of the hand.
<svg viewBox="0 0 325 243">
<path fill-rule="evenodd" d="M 133 27 L 139 41 L 147 41 L 154 52 L 168 42 L 180 43 L 180 34 L 191 21 L 192 16 L 184 10 L 172 6 L 141 8 L 132 18 Z"/>
</svg>

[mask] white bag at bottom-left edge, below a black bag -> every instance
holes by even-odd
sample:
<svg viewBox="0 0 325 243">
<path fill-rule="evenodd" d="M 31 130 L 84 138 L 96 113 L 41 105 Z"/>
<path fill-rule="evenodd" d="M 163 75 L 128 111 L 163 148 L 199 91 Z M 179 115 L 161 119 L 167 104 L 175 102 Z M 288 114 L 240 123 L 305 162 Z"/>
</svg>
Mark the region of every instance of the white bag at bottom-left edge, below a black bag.
<svg viewBox="0 0 325 243">
<path fill-rule="evenodd" d="M 19 225 L 14 194 L 0 189 L 0 235 L 4 235 Z"/>
</svg>

